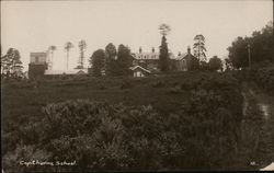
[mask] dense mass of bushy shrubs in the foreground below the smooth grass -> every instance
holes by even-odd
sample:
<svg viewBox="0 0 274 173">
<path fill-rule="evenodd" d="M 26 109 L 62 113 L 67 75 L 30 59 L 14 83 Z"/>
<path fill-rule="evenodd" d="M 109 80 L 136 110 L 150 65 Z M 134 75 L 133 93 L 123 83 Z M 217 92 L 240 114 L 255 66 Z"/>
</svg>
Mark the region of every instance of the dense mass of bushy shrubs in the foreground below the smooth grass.
<svg viewBox="0 0 274 173">
<path fill-rule="evenodd" d="M 203 105 L 216 102 L 193 93 L 180 114 L 159 115 L 150 105 L 129 107 L 88 100 L 66 101 L 43 108 L 34 143 L 22 141 L 4 159 L 7 171 L 201 170 L 221 168 L 236 137 L 232 113 Z M 37 122 L 36 122 L 37 123 Z M 33 122 L 31 122 L 33 124 Z M 26 130 L 25 128 L 22 130 Z M 235 134 L 235 132 L 232 132 Z M 35 135 L 34 135 L 35 136 Z M 24 151 L 24 152 L 23 152 Z M 20 165 L 21 160 L 76 162 L 70 166 Z"/>
</svg>

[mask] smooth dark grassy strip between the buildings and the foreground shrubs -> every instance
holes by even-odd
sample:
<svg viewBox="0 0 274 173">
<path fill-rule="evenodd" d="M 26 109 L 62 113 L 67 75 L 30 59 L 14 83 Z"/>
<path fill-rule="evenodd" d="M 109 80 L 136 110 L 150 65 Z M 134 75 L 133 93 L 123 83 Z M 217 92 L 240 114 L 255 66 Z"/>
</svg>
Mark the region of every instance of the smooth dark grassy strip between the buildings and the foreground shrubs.
<svg viewBox="0 0 274 173">
<path fill-rule="evenodd" d="M 187 78 L 186 78 L 187 76 Z M 193 73 L 192 76 L 195 76 Z M 187 91 L 176 85 L 191 79 L 189 74 L 146 79 L 71 79 L 32 82 L 5 82 L 2 89 L 3 117 L 35 115 L 48 103 L 73 99 L 122 102 L 126 105 L 153 105 L 161 113 L 172 113 L 187 101 Z"/>
</svg>

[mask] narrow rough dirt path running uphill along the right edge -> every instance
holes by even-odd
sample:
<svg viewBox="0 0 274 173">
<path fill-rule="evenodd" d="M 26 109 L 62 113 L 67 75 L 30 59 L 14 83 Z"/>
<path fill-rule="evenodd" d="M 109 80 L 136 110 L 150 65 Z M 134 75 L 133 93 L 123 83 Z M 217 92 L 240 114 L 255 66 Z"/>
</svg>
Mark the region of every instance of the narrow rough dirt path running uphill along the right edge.
<svg viewBox="0 0 274 173">
<path fill-rule="evenodd" d="M 255 168 L 262 169 L 274 162 L 274 96 L 269 95 L 254 83 L 243 83 L 242 91 L 244 97 L 243 115 L 244 119 L 248 119 L 246 126 L 250 126 L 251 130 L 259 130 L 254 134 L 250 132 L 253 138 L 250 137 L 250 141 L 254 140 L 255 143 L 255 146 L 252 146 L 251 151 L 251 155 L 255 161 L 251 161 L 251 166 L 253 164 Z M 256 107 L 260 109 L 259 112 L 254 111 Z M 261 115 L 260 120 L 255 114 Z M 252 126 L 259 128 L 255 129 Z"/>
</svg>

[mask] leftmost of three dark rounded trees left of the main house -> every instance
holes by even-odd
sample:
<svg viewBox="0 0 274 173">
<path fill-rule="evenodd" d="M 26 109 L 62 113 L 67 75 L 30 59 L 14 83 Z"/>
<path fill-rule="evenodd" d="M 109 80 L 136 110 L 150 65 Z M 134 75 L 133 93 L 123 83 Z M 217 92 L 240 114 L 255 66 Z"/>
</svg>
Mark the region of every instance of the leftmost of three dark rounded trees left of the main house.
<svg viewBox="0 0 274 173">
<path fill-rule="evenodd" d="M 93 77 L 102 76 L 102 70 L 104 68 L 104 59 L 105 59 L 105 53 L 103 49 L 98 49 L 92 54 L 90 58 L 90 64 L 92 65 Z"/>
</svg>

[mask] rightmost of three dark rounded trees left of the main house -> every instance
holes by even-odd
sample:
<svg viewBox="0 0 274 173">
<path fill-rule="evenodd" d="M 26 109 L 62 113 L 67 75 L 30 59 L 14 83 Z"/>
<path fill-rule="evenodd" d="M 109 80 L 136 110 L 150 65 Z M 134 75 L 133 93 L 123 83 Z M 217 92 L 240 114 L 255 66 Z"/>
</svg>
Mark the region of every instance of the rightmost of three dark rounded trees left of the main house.
<svg viewBox="0 0 274 173">
<path fill-rule="evenodd" d="M 130 54 L 130 49 L 123 44 L 118 46 L 117 53 L 117 76 L 128 76 L 129 67 L 133 65 L 133 56 Z"/>
</svg>

